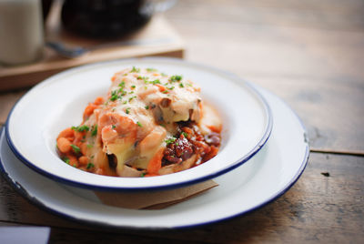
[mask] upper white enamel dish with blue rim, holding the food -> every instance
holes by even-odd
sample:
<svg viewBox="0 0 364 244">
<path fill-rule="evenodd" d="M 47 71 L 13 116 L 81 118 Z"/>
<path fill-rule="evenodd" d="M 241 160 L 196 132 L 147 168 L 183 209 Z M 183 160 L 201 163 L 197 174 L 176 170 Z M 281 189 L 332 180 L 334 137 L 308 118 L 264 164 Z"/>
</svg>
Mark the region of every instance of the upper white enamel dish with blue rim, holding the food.
<svg viewBox="0 0 364 244">
<path fill-rule="evenodd" d="M 86 105 L 106 94 L 111 76 L 131 66 L 182 75 L 201 86 L 202 97 L 217 108 L 223 119 L 217 157 L 196 168 L 154 178 L 100 176 L 73 168 L 58 158 L 59 132 L 79 125 Z M 76 67 L 46 79 L 15 105 L 5 131 L 15 156 L 46 177 L 81 188 L 136 190 L 180 187 L 226 173 L 252 158 L 268 140 L 271 128 L 266 101 L 237 76 L 179 59 L 143 58 Z"/>
</svg>

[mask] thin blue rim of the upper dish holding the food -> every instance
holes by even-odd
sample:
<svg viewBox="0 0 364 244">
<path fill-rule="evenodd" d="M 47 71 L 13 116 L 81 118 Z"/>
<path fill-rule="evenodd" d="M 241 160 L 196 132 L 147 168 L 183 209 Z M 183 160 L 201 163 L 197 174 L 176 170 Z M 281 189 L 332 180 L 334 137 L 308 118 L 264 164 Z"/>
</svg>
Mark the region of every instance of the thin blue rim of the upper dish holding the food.
<svg viewBox="0 0 364 244">
<path fill-rule="evenodd" d="M 157 61 L 168 61 L 168 62 L 174 62 L 176 64 L 185 64 L 185 65 L 189 65 L 189 66 L 194 66 L 194 67 L 198 67 L 198 68 L 204 68 L 207 69 L 208 71 L 214 71 L 217 73 L 220 73 L 222 75 L 228 76 L 231 79 L 233 79 L 232 81 L 237 83 L 235 80 L 239 80 L 241 83 L 240 84 L 246 84 L 248 86 L 248 88 L 250 89 L 251 93 L 258 97 L 259 101 L 262 103 L 263 107 L 265 108 L 265 114 L 266 117 L 268 118 L 268 123 L 267 126 L 265 127 L 265 133 L 264 135 L 260 138 L 260 140 L 258 141 L 258 144 L 253 147 L 248 154 L 246 154 L 245 156 L 243 156 L 242 158 L 239 158 L 232 166 L 228 167 L 228 168 L 224 168 L 216 173 L 213 174 L 209 174 L 207 176 L 204 177 L 200 177 L 200 178 L 195 178 L 195 179 L 191 179 L 188 181 L 184 181 L 181 183 L 174 183 L 174 184 L 169 184 L 167 186 L 156 186 L 156 187 L 150 187 L 150 188 L 123 188 L 123 187 L 101 187 L 101 186 L 95 186 L 95 185 L 90 185 L 90 184 L 86 184 L 86 183 L 80 183 L 68 178 L 62 178 L 59 176 L 56 176 L 52 173 L 46 172 L 44 169 L 36 167 L 31 161 L 29 161 L 28 159 L 26 159 L 15 147 L 11 137 L 9 136 L 9 124 L 8 121 L 10 119 L 10 117 L 13 114 L 13 111 L 16 107 L 16 105 L 21 102 L 21 100 L 23 99 L 24 96 L 26 96 L 27 93 L 25 93 L 25 95 L 23 97 L 21 97 L 16 103 L 15 106 L 12 107 L 6 122 L 5 122 L 5 137 L 7 140 L 7 143 L 10 147 L 10 149 L 13 151 L 13 153 L 15 154 L 15 157 L 18 158 L 21 162 L 23 162 L 27 167 L 32 168 L 33 170 L 35 170 L 37 173 L 47 177 L 47 178 L 51 178 L 53 180 L 56 180 L 57 182 L 69 185 L 69 186 L 73 186 L 73 187 L 77 187 L 77 188 L 87 188 L 87 189 L 95 189 L 95 190 L 101 190 L 101 191 L 145 191 L 145 190 L 157 190 L 157 189 L 171 189 L 171 188 L 183 188 L 186 187 L 188 185 L 192 185 L 192 184 L 196 184 L 198 182 L 203 182 L 206 181 L 207 179 L 210 178 L 216 178 L 220 175 L 223 175 L 225 173 L 227 173 L 228 171 L 234 169 L 234 168 L 238 168 L 239 166 L 241 166 L 242 164 L 244 164 L 245 162 L 247 162 L 250 158 L 253 158 L 258 151 L 264 147 L 264 145 L 267 143 L 268 138 L 270 137 L 270 134 L 272 132 L 272 127 L 273 127 L 273 117 L 272 117 L 272 112 L 271 109 L 268 105 L 267 100 L 258 92 L 258 89 L 256 89 L 252 84 L 250 84 L 248 81 L 245 81 L 244 79 L 241 79 L 240 77 L 229 73 L 227 71 L 224 70 L 220 70 L 218 68 L 212 67 L 212 66 L 206 66 L 206 65 L 201 65 L 201 64 L 197 64 L 194 62 L 189 62 L 189 61 L 185 61 L 182 59 L 178 59 L 178 58 L 170 58 L 170 57 L 141 57 L 141 58 L 126 58 L 126 59 L 116 59 L 116 60 L 112 60 L 112 61 L 104 61 L 104 62 L 97 62 L 94 64 L 87 64 L 84 66 L 76 66 L 74 68 L 70 68 L 67 69 L 65 71 L 62 71 L 54 76 L 50 76 L 48 78 L 46 78 L 44 81 L 40 82 L 39 84 L 37 84 L 36 86 L 34 86 L 31 90 L 35 89 L 37 86 L 40 86 L 42 84 L 44 84 L 45 82 L 48 82 L 49 78 L 52 77 L 56 77 L 56 76 L 64 76 L 66 73 L 68 72 L 72 72 L 76 69 L 85 67 L 85 66 L 98 66 L 100 64 L 106 64 L 106 63 L 117 63 L 117 62 L 137 62 L 137 61 L 141 61 L 141 60 L 148 60 L 148 61 L 152 61 L 152 60 L 157 60 Z"/>
</svg>

